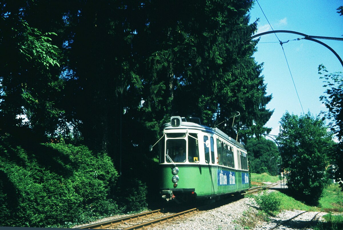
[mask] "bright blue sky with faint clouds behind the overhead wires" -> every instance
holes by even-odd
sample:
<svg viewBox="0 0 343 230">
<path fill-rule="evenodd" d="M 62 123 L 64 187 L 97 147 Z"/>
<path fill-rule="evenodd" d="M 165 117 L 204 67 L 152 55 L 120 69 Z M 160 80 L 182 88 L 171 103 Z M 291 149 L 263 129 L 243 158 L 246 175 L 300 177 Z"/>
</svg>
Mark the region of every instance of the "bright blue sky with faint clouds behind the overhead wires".
<svg viewBox="0 0 343 230">
<path fill-rule="evenodd" d="M 292 30 L 312 36 L 342 38 L 343 16 L 336 13 L 336 9 L 343 5 L 342 0 L 259 0 L 259 3 L 274 30 Z M 250 11 L 250 17 L 250 22 L 259 18 L 256 34 L 272 30 L 257 2 Z M 286 33 L 278 33 L 277 36 L 283 42 L 301 38 L 299 35 Z M 334 49 L 343 59 L 343 41 L 318 40 Z M 273 95 L 267 108 L 274 109 L 274 114 L 267 127 L 272 128 L 270 134 L 277 135 L 279 121 L 286 111 L 297 115 L 301 115 L 303 111 L 280 43 L 264 42 L 277 42 L 277 38 L 275 34 L 261 36 L 258 51 L 254 54 L 258 63 L 264 63 L 262 74 L 267 84 L 267 93 Z M 337 57 L 321 44 L 304 39 L 284 43 L 283 48 L 305 113 L 310 111 L 318 115 L 321 111 L 326 111 L 319 101 L 325 88 L 319 79 L 318 66 L 323 64 L 330 73 L 343 72 Z"/>
</svg>

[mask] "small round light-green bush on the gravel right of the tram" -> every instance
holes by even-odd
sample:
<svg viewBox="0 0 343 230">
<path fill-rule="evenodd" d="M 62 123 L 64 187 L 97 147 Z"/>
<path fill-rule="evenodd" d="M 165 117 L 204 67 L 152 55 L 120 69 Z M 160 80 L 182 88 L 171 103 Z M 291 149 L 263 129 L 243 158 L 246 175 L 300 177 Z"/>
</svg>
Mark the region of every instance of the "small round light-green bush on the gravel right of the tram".
<svg viewBox="0 0 343 230">
<path fill-rule="evenodd" d="M 275 215 L 280 211 L 281 199 L 275 192 L 264 192 L 254 196 L 256 203 L 261 210 L 269 215 Z"/>
</svg>

